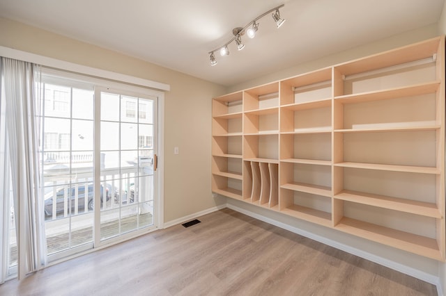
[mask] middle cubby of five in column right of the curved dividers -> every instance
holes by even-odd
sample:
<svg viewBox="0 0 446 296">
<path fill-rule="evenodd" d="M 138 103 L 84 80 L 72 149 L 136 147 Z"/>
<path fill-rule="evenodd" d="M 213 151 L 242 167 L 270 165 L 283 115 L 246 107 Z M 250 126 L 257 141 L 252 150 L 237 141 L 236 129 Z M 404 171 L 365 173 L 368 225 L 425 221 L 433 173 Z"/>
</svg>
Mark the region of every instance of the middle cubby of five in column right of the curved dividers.
<svg viewBox="0 0 446 296">
<path fill-rule="evenodd" d="M 331 165 L 331 157 L 331 133 L 286 133 L 280 135 L 281 161 Z"/>
</svg>

